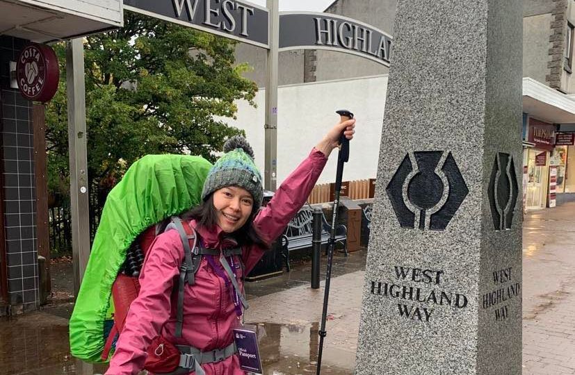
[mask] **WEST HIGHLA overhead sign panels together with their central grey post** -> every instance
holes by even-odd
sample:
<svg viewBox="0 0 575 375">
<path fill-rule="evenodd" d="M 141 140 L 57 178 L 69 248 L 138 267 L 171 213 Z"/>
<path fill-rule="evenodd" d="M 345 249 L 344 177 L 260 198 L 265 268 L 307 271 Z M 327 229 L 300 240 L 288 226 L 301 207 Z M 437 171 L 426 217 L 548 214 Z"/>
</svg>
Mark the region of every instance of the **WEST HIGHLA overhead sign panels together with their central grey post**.
<svg viewBox="0 0 575 375">
<path fill-rule="evenodd" d="M 265 48 L 266 131 L 264 188 L 277 183 L 278 53 L 289 49 L 329 49 L 389 67 L 391 35 L 355 19 L 321 12 L 282 12 L 279 0 L 267 8 L 238 0 L 123 0 L 124 9 Z"/>
</svg>

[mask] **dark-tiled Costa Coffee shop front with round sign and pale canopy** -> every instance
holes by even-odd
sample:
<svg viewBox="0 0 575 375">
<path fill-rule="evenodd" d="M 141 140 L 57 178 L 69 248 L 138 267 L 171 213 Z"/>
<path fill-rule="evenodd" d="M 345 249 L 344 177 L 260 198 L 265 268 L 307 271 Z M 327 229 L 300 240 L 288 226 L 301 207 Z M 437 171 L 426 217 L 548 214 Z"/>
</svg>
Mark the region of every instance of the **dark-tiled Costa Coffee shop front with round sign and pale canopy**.
<svg viewBox="0 0 575 375">
<path fill-rule="evenodd" d="M 122 26 L 122 1 L 0 0 L 0 13 L 1 316 L 38 308 L 49 289 L 43 103 L 58 61 L 47 44 Z"/>
</svg>

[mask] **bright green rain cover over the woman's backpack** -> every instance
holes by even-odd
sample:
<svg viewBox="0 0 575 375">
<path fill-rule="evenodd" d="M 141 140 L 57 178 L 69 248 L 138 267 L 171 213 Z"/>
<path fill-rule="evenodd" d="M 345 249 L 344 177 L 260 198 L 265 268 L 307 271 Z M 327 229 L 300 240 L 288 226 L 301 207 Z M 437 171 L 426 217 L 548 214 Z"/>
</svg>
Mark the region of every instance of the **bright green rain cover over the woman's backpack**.
<svg viewBox="0 0 575 375">
<path fill-rule="evenodd" d="M 210 168 L 200 156 L 147 155 L 108 194 L 70 318 L 74 357 L 102 362 L 104 322 L 113 313 L 112 284 L 127 249 L 149 226 L 200 204 Z"/>
</svg>

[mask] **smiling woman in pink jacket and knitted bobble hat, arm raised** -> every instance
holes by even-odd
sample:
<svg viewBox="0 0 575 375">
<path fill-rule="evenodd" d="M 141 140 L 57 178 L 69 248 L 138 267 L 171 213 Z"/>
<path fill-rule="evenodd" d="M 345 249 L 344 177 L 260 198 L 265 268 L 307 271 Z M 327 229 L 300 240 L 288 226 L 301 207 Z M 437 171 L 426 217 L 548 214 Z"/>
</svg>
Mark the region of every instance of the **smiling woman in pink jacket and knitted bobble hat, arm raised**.
<svg viewBox="0 0 575 375">
<path fill-rule="evenodd" d="M 244 375 L 232 335 L 243 315 L 243 273 L 251 271 L 303 206 L 341 133 L 351 140 L 354 128 L 355 119 L 334 126 L 261 210 L 261 174 L 250 145 L 241 137 L 226 142 L 227 153 L 216 161 L 204 183 L 203 203 L 184 215 L 184 224 L 195 230 L 201 247 L 220 252 L 241 247 L 241 254 L 202 256 L 195 283 L 185 287 L 183 326 L 181 335 L 176 335 L 177 293 L 172 290 L 184 247 L 177 231 L 156 237 L 140 274 L 140 293 L 131 303 L 106 374 L 137 374 L 150 343 L 161 335 L 168 342 L 191 347 L 192 353 L 201 352 L 194 357 L 201 359 L 179 368 L 178 374 Z M 229 269 L 235 280 L 228 276 Z"/>
</svg>

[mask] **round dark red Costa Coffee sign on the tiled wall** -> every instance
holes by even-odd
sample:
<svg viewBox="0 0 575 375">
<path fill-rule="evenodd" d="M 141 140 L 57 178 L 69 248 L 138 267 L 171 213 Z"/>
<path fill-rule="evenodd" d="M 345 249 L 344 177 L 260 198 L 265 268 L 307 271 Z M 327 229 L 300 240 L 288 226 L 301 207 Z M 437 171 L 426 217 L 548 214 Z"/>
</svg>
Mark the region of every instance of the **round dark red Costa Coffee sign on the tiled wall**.
<svg viewBox="0 0 575 375">
<path fill-rule="evenodd" d="M 58 90 L 60 69 L 54 49 L 44 44 L 29 44 L 20 52 L 16 65 L 18 88 L 25 99 L 49 101 Z"/>
</svg>

